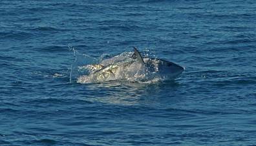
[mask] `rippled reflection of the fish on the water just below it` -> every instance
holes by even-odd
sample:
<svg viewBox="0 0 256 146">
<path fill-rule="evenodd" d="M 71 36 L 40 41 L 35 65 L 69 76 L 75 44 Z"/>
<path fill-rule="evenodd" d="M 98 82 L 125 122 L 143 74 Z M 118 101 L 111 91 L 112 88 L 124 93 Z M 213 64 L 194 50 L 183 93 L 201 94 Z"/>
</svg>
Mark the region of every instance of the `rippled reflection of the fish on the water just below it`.
<svg viewBox="0 0 256 146">
<path fill-rule="evenodd" d="M 176 102 L 180 95 L 180 84 L 176 81 L 158 83 L 131 83 L 109 81 L 107 83 L 84 84 L 86 98 L 91 102 L 114 105 L 154 105 Z"/>
</svg>

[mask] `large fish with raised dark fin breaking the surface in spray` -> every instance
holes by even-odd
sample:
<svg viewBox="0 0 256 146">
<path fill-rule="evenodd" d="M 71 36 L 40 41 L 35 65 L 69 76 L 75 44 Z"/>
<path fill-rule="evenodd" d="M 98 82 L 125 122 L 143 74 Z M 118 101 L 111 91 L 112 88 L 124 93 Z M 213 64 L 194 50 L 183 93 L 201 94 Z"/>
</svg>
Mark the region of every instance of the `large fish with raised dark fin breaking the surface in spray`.
<svg viewBox="0 0 256 146">
<path fill-rule="evenodd" d="M 133 55 L 125 59 L 116 59 L 111 63 L 85 65 L 80 69 L 89 70 L 89 74 L 80 76 L 78 83 L 101 83 L 112 80 L 151 81 L 153 79 L 176 79 L 184 68 L 164 59 L 142 57 L 136 47 Z M 114 60 L 114 59 L 112 59 Z M 105 60 L 105 62 L 107 62 Z"/>
</svg>

